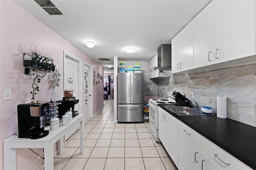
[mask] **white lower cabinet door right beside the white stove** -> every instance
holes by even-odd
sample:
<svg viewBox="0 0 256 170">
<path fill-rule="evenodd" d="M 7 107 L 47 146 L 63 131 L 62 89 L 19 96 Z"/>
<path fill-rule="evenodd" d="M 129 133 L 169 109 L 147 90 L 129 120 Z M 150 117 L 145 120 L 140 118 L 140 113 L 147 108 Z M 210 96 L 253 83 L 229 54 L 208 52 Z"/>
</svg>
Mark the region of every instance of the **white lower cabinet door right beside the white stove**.
<svg viewBox="0 0 256 170">
<path fill-rule="evenodd" d="M 158 137 L 178 167 L 178 119 L 158 107 Z"/>
</svg>

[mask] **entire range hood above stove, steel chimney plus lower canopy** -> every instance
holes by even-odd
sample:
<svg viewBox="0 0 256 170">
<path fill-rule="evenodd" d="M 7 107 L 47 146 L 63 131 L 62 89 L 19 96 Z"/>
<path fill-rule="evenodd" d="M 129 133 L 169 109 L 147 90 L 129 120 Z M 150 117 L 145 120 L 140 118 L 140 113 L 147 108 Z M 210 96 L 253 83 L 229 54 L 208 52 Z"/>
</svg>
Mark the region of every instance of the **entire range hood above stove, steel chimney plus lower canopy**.
<svg viewBox="0 0 256 170">
<path fill-rule="evenodd" d="M 157 67 L 150 68 L 149 78 L 170 77 L 172 68 L 172 50 L 170 44 L 162 44 L 158 48 Z"/>
</svg>

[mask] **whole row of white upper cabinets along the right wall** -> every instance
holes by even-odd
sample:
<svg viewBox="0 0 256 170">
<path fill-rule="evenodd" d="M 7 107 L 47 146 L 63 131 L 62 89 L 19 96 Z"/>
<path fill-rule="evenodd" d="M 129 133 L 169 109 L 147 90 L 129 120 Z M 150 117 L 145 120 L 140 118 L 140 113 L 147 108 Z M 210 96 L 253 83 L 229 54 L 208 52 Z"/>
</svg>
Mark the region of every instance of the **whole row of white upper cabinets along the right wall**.
<svg viewBox="0 0 256 170">
<path fill-rule="evenodd" d="M 180 39 L 177 36 L 173 38 L 172 73 L 206 71 L 255 62 L 254 1 L 210 2 L 177 34 Z"/>
</svg>

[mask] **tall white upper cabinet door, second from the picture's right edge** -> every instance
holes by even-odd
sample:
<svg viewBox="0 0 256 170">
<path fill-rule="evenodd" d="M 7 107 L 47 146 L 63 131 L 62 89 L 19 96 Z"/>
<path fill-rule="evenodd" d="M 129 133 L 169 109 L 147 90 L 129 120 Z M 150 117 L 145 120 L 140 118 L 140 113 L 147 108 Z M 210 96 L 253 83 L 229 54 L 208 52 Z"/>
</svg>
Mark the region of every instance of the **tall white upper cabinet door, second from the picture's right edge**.
<svg viewBox="0 0 256 170">
<path fill-rule="evenodd" d="M 214 2 L 194 19 L 194 68 L 214 64 Z"/>
</svg>

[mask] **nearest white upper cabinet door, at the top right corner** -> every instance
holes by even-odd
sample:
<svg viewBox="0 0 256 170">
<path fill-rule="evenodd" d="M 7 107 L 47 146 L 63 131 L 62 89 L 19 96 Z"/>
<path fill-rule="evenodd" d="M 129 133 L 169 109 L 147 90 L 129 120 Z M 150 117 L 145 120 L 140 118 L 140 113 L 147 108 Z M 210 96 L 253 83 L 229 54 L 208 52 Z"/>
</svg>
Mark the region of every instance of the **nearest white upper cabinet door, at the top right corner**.
<svg viewBox="0 0 256 170">
<path fill-rule="evenodd" d="M 215 63 L 255 55 L 254 0 L 214 0 Z"/>
</svg>

